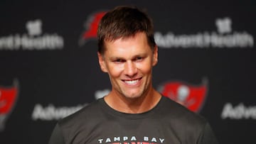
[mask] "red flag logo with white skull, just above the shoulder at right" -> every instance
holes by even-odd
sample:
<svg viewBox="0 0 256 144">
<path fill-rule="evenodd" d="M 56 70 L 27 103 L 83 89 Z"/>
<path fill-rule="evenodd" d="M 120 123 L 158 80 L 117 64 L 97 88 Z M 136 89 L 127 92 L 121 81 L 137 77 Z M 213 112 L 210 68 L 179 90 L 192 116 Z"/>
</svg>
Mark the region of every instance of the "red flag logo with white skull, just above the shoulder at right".
<svg viewBox="0 0 256 144">
<path fill-rule="evenodd" d="M 187 84 L 185 82 L 167 82 L 159 89 L 166 97 L 186 106 L 191 111 L 199 112 L 206 99 L 208 90 L 207 81 L 203 80 L 200 85 Z"/>
</svg>

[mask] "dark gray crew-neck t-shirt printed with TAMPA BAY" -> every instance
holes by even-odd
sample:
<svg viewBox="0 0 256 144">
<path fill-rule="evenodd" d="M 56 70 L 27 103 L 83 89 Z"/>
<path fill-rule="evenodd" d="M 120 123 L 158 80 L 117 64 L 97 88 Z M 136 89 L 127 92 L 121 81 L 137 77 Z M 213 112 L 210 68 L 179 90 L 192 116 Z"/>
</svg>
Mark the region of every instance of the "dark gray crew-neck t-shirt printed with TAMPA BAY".
<svg viewBox="0 0 256 144">
<path fill-rule="evenodd" d="M 63 118 L 49 144 L 217 144 L 205 118 L 161 97 L 145 113 L 121 113 L 98 99 Z"/>
</svg>

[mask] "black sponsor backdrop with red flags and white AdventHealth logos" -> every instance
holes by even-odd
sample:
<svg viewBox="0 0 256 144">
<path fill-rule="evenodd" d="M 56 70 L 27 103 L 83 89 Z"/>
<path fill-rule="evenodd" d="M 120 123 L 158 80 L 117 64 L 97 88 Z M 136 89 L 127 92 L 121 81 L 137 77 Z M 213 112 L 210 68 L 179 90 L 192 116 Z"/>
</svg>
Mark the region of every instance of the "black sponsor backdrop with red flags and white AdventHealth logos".
<svg viewBox="0 0 256 144">
<path fill-rule="evenodd" d="M 1 1 L 0 143 L 48 143 L 58 119 L 110 91 L 96 28 L 127 4 L 154 21 L 154 87 L 205 116 L 220 143 L 256 143 L 255 3 L 144 0 Z"/>
</svg>

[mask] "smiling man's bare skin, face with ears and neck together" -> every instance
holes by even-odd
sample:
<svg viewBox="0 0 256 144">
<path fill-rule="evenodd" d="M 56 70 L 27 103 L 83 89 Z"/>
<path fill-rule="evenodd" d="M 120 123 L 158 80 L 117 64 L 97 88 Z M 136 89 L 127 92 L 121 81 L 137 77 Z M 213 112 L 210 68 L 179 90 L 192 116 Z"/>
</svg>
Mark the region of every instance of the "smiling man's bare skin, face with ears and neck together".
<svg viewBox="0 0 256 144">
<path fill-rule="evenodd" d="M 98 52 L 100 67 L 110 76 L 112 91 L 106 103 L 124 113 L 142 113 L 152 109 L 161 94 L 152 87 L 152 67 L 157 63 L 157 47 L 151 48 L 146 34 L 105 42 L 105 52 Z"/>
</svg>

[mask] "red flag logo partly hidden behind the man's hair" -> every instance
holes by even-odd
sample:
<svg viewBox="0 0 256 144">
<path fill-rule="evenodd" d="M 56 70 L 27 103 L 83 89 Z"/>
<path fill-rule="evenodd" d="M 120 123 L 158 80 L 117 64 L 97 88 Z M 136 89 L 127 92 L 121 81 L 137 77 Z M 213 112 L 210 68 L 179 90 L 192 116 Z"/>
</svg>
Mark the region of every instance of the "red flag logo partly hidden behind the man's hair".
<svg viewBox="0 0 256 144">
<path fill-rule="evenodd" d="M 87 21 L 85 23 L 86 31 L 82 33 L 79 45 L 82 46 L 84 43 L 93 38 L 97 38 L 97 27 L 99 26 L 101 18 L 105 15 L 105 11 L 101 11 L 98 13 L 94 13 L 89 18 L 87 18 Z"/>
</svg>

